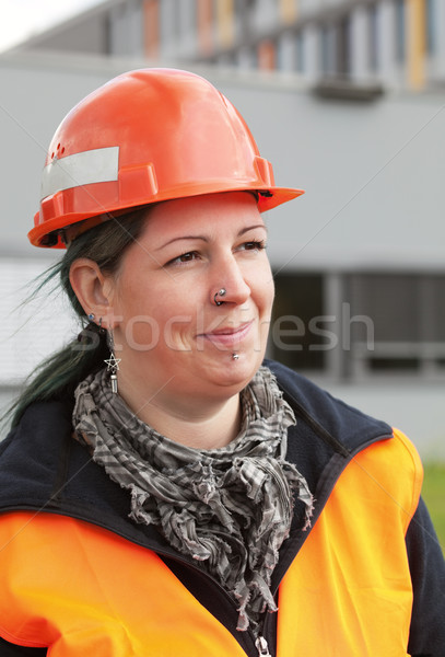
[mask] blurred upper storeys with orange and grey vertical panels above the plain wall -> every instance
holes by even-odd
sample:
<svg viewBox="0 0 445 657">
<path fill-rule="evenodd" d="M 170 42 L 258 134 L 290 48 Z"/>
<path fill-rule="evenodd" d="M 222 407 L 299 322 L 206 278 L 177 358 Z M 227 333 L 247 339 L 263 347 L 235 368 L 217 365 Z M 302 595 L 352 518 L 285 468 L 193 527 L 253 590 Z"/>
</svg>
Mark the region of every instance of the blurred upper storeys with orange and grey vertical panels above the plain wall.
<svg viewBox="0 0 445 657">
<path fill-rule="evenodd" d="M 20 48 L 422 90 L 445 81 L 443 0 L 108 0 Z"/>
</svg>

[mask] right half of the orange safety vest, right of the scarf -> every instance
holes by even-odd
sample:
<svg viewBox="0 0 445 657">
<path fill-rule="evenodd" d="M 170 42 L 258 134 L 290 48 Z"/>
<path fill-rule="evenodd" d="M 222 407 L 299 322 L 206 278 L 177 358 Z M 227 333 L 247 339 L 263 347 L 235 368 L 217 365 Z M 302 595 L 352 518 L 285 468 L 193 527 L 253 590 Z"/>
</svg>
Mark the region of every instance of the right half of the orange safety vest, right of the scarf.
<svg viewBox="0 0 445 657">
<path fill-rule="evenodd" d="M 280 657 L 408 655 L 405 535 L 422 477 L 417 451 L 398 431 L 343 471 L 280 586 Z"/>
</svg>

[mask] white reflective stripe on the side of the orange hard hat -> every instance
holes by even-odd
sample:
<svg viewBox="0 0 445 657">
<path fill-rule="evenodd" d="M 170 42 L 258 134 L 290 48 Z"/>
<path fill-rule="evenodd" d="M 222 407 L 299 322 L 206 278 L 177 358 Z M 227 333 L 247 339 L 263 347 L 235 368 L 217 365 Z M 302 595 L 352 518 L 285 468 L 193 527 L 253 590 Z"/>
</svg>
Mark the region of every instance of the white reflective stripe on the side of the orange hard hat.
<svg viewBox="0 0 445 657">
<path fill-rule="evenodd" d="M 52 160 L 42 175 L 42 198 L 56 192 L 118 180 L 119 147 L 96 148 Z"/>
</svg>

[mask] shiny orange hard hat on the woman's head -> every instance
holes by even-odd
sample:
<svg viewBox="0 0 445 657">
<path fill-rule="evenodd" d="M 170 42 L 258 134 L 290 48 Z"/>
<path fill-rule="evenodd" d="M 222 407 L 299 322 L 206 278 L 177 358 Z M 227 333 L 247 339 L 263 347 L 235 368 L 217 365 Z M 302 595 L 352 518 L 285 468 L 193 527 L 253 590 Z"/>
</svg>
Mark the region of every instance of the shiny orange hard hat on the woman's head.
<svg viewBox="0 0 445 657">
<path fill-rule="evenodd" d="M 276 187 L 243 117 L 210 82 L 175 69 L 130 71 L 58 127 L 28 238 L 62 247 L 62 229 L 90 217 L 233 191 L 257 192 L 261 211 L 303 194 Z"/>
</svg>

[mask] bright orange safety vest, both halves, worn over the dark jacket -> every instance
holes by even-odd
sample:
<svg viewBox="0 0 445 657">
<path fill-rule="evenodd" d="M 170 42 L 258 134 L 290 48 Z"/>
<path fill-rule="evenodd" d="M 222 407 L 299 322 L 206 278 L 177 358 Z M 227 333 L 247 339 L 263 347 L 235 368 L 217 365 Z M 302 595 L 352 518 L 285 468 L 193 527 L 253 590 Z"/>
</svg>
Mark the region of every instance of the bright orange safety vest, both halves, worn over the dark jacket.
<svg viewBox="0 0 445 657">
<path fill-rule="evenodd" d="M 408 655 L 421 479 L 399 433 L 353 458 L 281 581 L 277 657 Z M 154 552 L 48 512 L 0 518 L 0 636 L 50 657 L 246 655 Z"/>
</svg>

